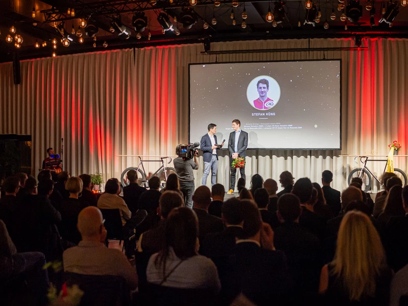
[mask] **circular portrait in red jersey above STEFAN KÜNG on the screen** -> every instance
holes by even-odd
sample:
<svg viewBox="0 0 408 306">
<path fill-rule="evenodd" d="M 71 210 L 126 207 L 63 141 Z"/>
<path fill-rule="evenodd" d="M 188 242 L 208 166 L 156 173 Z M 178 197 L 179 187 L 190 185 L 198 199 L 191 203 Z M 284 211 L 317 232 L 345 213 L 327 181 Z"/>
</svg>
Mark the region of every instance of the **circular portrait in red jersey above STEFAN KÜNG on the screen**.
<svg viewBox="0 0 408 306">
<path fill-rule="evenodd" d="M 260 111 L 269 110 L 275 107 L 281 98 L 281 87 L 268 75 L 259 75 L 249 82 L 246 98 L 253 108 Z"/>
</svg>

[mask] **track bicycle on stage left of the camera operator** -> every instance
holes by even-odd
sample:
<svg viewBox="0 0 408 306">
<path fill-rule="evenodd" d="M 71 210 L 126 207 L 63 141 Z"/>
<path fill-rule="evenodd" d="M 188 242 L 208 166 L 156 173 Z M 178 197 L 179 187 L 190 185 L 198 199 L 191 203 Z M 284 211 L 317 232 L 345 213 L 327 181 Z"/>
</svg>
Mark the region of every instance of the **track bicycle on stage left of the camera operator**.
<svg viewBox="0 0 408 306">
<path fill-rule="evenodd" d="M 142 160 L 142 158 L 140 156 L 138 156 L 140 162 L 139 165 L 137 167 L 129 167 L 123 170 L 122 174 L 120 175 L 120 183 L 122 184 L 122 186 L 127 186 L 129 185 L 129 181 L 127 181 L 127 172 L 129 172 L 130 170 L 135 170 L 137 172 L 137 183 L 139 184 L 139 186 L 142 187 L 148 187 L 148 182 L 147 182 L 147 176 L 146 175 L 146 171 L 144 170 L 144 166 L 143 166 L 143 162 L 160 162 L 162 165 L 160 166 L 159 169 L 156 170 L 155 173 L 153 173 L 151 176 L 158 176 L 160 178 L 160 189 L 163 189 L 166 187 L 166 181 L 167 181 L 167 177 L 171 174 L 171 173 L 175 173 L 175 169 L 173 167 L 165 167 L 164 166 L 164 161 L 167 159 L 168 160 L 168 164 L 171 163 L 171 157 L 169 156 L 165 156 L 165 157 L 160 157 L 160 160 Z"/>
</svg>

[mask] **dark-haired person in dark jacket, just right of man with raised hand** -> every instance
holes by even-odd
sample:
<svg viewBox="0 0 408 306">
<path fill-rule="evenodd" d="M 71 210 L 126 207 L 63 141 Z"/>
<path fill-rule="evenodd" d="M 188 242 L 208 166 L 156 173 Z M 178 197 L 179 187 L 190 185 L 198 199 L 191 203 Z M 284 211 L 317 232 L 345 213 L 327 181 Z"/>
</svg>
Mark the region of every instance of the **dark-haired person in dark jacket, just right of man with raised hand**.
<svg viewBox="0 0 408 306">
<path fill-rule="evenodd" d="M 274 231 L 275 247 L 284 251 L 295 282 L 294 295 L 313 295 L 319 287 L 322 250 L 319 239 L 299 225 L 300 200 L 294 194 L 284 194 L 278 200 L 278 214 L 284 220 Z"/>
</svg>

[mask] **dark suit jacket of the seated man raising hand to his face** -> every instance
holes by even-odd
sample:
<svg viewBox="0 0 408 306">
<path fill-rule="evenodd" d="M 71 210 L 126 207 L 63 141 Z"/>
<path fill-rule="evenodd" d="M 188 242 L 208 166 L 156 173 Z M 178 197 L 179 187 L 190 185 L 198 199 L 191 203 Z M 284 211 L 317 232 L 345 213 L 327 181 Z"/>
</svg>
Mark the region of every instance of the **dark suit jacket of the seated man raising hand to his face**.
<svg viewBox="0 0 408 306">
<path fill-rule="evenodd" d="M 227 300 L 243 293 L 255 304 L 283 304 L 292 281 L 284 252 L 260 248 L 253 242 L 237 243 L 228 260 L 228 275 L 221 283 Z M 228 303 L 229 304 L 229 303 Z"/>
</svg>

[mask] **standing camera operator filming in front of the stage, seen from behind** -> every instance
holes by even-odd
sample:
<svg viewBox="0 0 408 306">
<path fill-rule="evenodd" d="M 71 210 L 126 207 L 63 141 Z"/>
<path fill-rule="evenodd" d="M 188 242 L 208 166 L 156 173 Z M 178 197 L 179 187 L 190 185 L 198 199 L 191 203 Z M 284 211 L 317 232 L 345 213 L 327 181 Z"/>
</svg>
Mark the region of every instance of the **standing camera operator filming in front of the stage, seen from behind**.
<svg viewBox="0 0 408 306">
<path fill-rule="evenodd" d="M 198 151 L 194 150 L 194 160 L 186 159 L 180 157 L 180 150 L 182 144 L 179 144 L 175 148 L 175 154 L 179 157 L 176 157 L 173 160 L 174 168 L 177 176 L 180 181 L 180 189 L 184 195 L 184 203 L 186 207 L 193 208 L 193 193 L 194 193 L 194 174 L 193 170 L 198 170 L 198 161 L 197 154 Z"/>
</svg>

